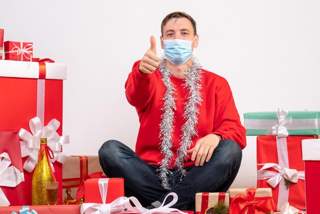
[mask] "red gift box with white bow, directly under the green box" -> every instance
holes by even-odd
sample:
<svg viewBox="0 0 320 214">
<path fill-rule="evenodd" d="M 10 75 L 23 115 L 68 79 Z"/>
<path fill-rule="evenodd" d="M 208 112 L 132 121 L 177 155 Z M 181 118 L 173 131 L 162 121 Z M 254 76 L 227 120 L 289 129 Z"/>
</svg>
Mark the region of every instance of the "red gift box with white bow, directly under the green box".
<svg viewBox="0 0 320 214">
<path fill-rule="evenodd" d="M 305 209 L 304 163 L 301 141 L 313 136 L 258 136 L 257 137 L 257 187 L 272 189 L 275 210 L 289 202 Z"/>
</svg>

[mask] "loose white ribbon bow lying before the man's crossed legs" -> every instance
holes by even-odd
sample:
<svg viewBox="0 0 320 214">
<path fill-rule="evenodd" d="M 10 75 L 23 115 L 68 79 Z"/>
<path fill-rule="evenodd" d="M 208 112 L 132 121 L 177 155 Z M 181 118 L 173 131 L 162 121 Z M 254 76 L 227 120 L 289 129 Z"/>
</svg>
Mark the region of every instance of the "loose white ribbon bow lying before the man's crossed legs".
<svg viewBox="0 0 320 214">
<path fill-rule="evenodd" d="M 173 196 L 173 200 L 168 203 L 167 205 L 165 205 L 165 202 L 167 200 L 167 198 L 169 196 Z M 130 200 L 132 201 L 132 203 L 135 205 L 135 207 L 133 207 L 130 204 Z M 125 202 L 124 202 L 124 206 L 127 209 L 127 211 L 131 211 L 131 212 L 138 212 L 138 213 L 142 213 L 142 214 L 151 214 L 151 213 L 169 213 L 174 211 L 174 213 L 181 213 L 181 214 L 187 214 L 186 212 L 182 212 L 179 209 L 175 209 L 175 208 L 170 208 L 172 205 L 174 205 L 176 202 L 178 201 L 178 196 L 177 194 L 175 194 L 175 192 L 170 192 L 164 202 L 161 204 L 161 206 L 159 206 L 158 208 L 153 208 L 153 209 L 147 209 L 144 208 L 141 203 L 138 201 L 138 199 L 136 199 L 135 197 L 129 197 Z"/>
</svg>

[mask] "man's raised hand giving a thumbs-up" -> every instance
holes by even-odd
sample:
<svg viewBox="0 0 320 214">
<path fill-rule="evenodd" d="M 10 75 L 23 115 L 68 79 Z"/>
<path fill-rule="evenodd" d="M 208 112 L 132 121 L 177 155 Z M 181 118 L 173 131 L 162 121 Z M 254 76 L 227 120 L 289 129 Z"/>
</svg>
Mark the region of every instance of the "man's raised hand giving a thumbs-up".
<svg viewBox="0 0 320 214">
<path fill-rule="evenodd" d="M 139 70 L 144 74 L 152 74 L 159 66 L 160 58 L 156 55 L 155 38 L 150 36 L 150 49 L 142 57 Z"/>
</svg>

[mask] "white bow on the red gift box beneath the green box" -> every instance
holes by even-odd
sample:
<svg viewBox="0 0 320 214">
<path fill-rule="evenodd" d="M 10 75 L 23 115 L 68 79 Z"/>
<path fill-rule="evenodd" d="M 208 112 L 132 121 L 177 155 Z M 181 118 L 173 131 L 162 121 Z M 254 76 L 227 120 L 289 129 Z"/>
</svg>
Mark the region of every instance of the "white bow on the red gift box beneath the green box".
<svg viewBox="0 0 320 214">
<path fill-rule="evenodd" d="M 274 168 L 278 173 L 271 170 L 263 170 L 267 168 Z M 305 172 L 298 172 L 296 169 L 283 168 L 277 163 L 266 163 L 260 170 L 258 170 L 258 180 L 264 180 L 267 178 L 269 178 L 267 183 L 275 188 L 283 178 L 293 183 L 298 182 L 299 179 L 304 180 Z"/>
</svg>

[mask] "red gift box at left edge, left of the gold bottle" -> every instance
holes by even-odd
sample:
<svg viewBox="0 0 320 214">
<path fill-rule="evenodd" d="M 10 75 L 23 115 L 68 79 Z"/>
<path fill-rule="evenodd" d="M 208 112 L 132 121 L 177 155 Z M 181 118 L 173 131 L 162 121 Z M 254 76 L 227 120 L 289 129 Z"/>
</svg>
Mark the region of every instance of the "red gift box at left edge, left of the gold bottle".
<svg viewBox="0 0 320 214">
<path fill-rule="evenodd" d="M 18 131 L 0 131 L 0 154 L 3 154 L 3 153 L 7 153 L 9 155 L 9 158 L 11 160 L 10 166 L 16 167 L 20 171 L 20 173 L 24 172 L 24 169 L 22 168 L 22 159 L 21 159 Z M 22 181 L 24 181 L 23 174 L 21 174 L 20 178 Z M 10 205 L 26 204 L 24 182 L 21 182 L 16 187 L 0 185 L 0 188 L 4 192 Z"/>
</svg>

